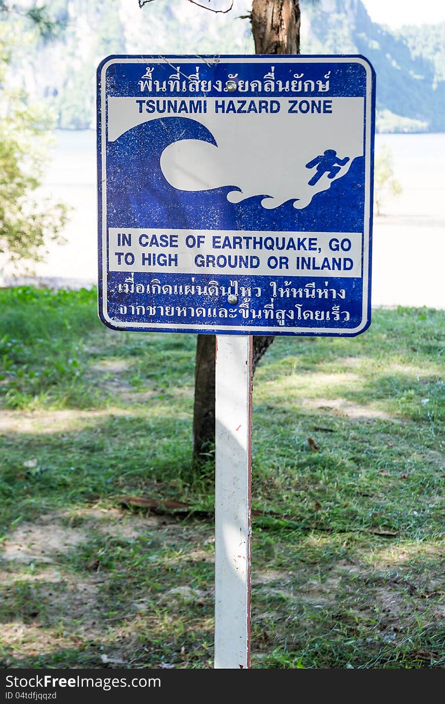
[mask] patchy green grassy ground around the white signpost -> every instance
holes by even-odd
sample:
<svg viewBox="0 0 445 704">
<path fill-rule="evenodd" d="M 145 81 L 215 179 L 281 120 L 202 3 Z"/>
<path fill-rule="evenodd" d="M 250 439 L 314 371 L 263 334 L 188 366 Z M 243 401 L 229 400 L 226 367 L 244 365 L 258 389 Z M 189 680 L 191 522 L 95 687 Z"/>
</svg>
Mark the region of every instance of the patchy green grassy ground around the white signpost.
<svg viewBox="0 0 445 704">
<path fill-rule="evenodd" d="M 0 303 L 2 666 L 212 667 L 194 336 L 112 332 L 95 291 Z M 445 667 L 444 333 L 444 311 L 376 310 L 258 366 L 253 667 Z"/>
</svg>

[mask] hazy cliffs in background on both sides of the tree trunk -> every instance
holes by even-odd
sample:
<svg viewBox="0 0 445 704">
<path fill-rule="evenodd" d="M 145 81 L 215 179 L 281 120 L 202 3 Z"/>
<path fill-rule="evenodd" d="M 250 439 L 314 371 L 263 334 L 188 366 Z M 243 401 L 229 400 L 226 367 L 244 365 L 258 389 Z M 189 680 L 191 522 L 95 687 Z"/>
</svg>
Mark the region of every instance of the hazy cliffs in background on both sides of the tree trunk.
<svg viewBox="0 0 445 704">
<path fill-rule="evenodd" d="M 372 23 L 361 0 L 300 0 L 300 6 L 302 54 L 363 54 L 371 61 L 377 129 L 445 130 L 445 23 L 393 32 Z M 29 89 L 47 97 L 58 127 L 94 127 L 95 70 L 103 58 L 253 54 L 250 8 L 251 0 L 234 0 L 226 14 L 186 0 L 156 0 L 142 9 L 137 0 L 52 0 L 41 19 L 57 23 L 58 37 L 41 36 L 30 51 Z"/>
</svg>

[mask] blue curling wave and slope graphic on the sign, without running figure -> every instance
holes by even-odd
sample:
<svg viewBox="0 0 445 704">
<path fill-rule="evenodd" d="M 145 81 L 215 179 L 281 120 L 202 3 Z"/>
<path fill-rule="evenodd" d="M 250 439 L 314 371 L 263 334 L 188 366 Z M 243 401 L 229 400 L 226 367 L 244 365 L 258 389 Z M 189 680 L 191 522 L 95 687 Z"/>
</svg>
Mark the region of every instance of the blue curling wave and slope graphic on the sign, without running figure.
<svg viewBox="0 0 445 704">
<path fill-rule="evenodd" d="M 107 145 L 109 227 L 165 227 L 193 230 L 360 232 L 364 218 L 364 158 L 354 159 L 346 175 L 334 180 L 310 205 L 296 210 L 295 199 L 267 210 L 268 194 L 241 203 L 227 201 L 225 187 L 180 191 L 161 171 L 164 149 L 181 139 L 216 145 L 213 134 L 190 118 L 158 118 L 132 127 Z M 289 174 L 292 179 L 292 174 Z"/>
</svg>

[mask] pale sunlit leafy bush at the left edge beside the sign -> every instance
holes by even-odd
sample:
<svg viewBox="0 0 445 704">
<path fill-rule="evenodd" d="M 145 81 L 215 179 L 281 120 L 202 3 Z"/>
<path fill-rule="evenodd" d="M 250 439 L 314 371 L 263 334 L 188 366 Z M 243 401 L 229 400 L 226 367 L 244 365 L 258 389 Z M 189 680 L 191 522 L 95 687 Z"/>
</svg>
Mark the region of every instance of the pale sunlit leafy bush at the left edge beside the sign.
<svg viewBox="0 0 445 704">
<path fill-rule="evenodd" d="M 22 20 L 0 23 L 0 254 L 4 266 L 22 270 L 44 259 L 48 239 L 63 239 L 68 215 L 63 203 L 38 193 L 54 115 L 8 82 L 27 37 Z"/>
</svg>

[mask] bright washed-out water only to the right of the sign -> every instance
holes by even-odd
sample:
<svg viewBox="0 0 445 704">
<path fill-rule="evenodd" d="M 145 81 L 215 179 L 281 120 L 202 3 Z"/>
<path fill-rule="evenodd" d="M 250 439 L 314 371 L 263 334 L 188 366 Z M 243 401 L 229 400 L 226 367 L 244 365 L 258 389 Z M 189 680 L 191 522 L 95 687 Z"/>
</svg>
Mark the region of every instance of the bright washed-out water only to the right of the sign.
<svg viewBox="0 0 445 704">
<path fill-rule="evenodd" d="M 387 144 L 400 196 L 375 218 L 373 306 L 445 308 L 445 134 L 377 134 Z"/>
</svg>

